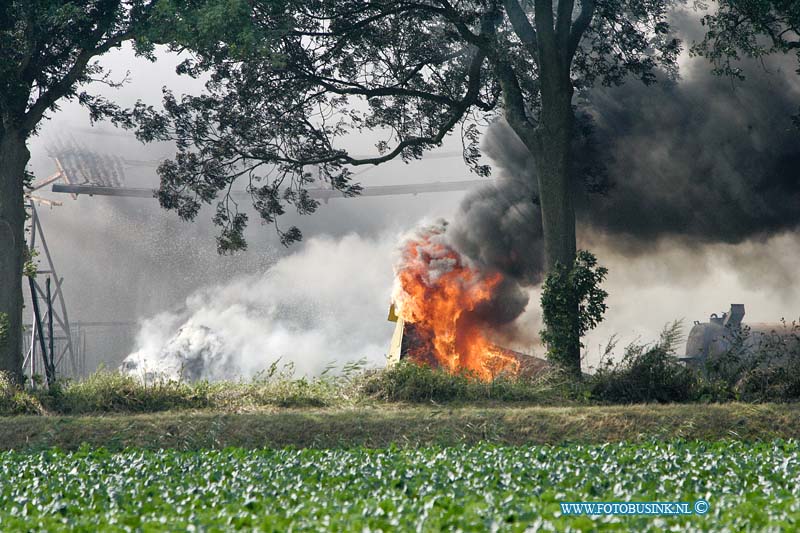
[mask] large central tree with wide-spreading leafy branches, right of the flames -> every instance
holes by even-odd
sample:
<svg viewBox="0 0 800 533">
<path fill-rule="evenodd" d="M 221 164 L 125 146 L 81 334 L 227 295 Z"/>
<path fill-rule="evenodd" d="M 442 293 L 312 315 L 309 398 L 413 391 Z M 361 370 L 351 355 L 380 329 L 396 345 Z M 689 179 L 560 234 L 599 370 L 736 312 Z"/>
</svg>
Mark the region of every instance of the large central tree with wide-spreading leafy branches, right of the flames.
<svg viewBox="0 0 800 533">
<path fill-rule="evenodd" d="M 207 0 L 217 1 L 243 3 Z M 165 92 L 164 113 L 137 109 L 142 139 L 178 143 L 159 168 L 161 205 L 193 219 L 218 199 L 219 248 L 241 249 L 247 216 L 229 196 L 234 181 L 246 180 L 259 216 L 275 222 L 287 205 L 314 211 L 305 189 L 312 179 L 358 194 L 353 167 L 419 158 L 459 130 L 465 161 L 486 175 L 479 126 L 501 113 L 536 161 L 532 201 L 541 208 L 545 264 L 572 265 L 576 91 L 628 76 L 651 83 L 658 67 L 674 69 L 679 43 L 669 36 L 667 4 L 252 0 L 254 38 L 227 46 L 198 39 L 203 24 L 181 17 L 171 38 L 198 52 L 182 70 L 209 81 L 200 96 Z M 375 155 L 339 144 L 353 131 L 382 136 Z M 278 231 L 284 243 L 301 237 L 295 227 Z M 579 348 L 571 361 L 580 372 Z"/>
</svg>

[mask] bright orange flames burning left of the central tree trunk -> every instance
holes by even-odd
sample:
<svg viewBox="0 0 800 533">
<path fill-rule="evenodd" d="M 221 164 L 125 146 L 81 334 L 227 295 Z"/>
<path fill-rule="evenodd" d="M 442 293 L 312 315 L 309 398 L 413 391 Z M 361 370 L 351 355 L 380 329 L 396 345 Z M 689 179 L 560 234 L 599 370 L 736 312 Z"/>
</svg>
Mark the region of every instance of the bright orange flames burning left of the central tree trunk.
<svg viewBox="0 0 800 533">
<path fill-rule="evenodd" d="M 446 242 L 445 229 L 425 228 L 403 246 L 393 300 L 398 316 L 413 325 L 417 337 L 407 357 L 483 380 L 516 374 L 518 358 L 489 341 L 474 313 L 491 300 L 503 277 L 470 267 Z"/>
</svg>

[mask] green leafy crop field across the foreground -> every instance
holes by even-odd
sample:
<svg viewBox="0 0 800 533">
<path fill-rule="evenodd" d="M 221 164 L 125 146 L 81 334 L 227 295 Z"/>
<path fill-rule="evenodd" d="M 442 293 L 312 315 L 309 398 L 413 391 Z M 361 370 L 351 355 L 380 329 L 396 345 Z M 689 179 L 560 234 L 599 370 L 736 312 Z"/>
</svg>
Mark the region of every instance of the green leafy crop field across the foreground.
<svg viewBox="0 0 800 533">
<path fill-rule="evenodd" d="M 0 454 L 0 530 L 796 530 L 800 444 Z M 562 516 L 562 501 L 705 515 Z"/>
</svg>

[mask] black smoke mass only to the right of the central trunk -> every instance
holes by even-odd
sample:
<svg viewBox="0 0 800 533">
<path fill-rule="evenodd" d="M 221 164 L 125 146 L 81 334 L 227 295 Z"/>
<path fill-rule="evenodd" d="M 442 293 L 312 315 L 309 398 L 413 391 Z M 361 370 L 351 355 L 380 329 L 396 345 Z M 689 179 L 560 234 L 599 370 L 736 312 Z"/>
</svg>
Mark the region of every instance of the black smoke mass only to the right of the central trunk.
<svg viewBox="0 0 800 533">
<path fill-rule="evenodd" d="M 737 244 L 796 229 L 800 132 L 791 115 L 800 95 L 778 73 L 754 74 L 736 89 L 696 73 L 593 93 L 612 190 L 583 197 L 584 224 L 637 248 L 670 237 Z"/>
</svg>

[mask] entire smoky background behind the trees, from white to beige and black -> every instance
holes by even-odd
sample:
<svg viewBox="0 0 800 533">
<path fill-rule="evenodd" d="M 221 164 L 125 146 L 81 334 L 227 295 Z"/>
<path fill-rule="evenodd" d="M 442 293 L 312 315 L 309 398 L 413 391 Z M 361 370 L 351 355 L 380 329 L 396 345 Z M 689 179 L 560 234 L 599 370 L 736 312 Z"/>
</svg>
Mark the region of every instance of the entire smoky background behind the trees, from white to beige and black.
<svg viewBox="0 0 800 533">
<path fill-rule="evenodd" d="M 698 18 L 676 19 L 684 40 L 699 37 Z M 177 60 L 166 54 L 150 64 L 123 50 L 104 63 L 131 70 L 133 83 L 106 93 L 122 104 L 157 103 L 161 85 L 200 90 L 173 74 Z M 745 64 L 747 81 L 732 83 L 687 57 L 675 82 L 631 82 L 586 96 L 591 150 L 576 149 L 576 167 L 602 170 L 607 190 L 579 195 L 579 245 L 610 269 L 606 321 L 586 340 L 590 364 L 612 334 L 622 344 L 652 340 L 671 320 L 705 320 L 732 302 L 746 305 L 746 321 L 800 315 L 795 68 L 794 57 L 769 58 Z M 127 186 L 155 187 L 152 162 L 172 154 L 169 145 L 89 128 L 82 110 L 67 105 L 34 140 L 38 177 L 54 171 L 47 148 L 64 138 L 128 160 Z M 374 144 L 348 143 L 355 153 Z M 422 161 L 358 179 L 365 186 L 465 179 L 466 167 L 452 157 L 459 147 L 451 139 Z M 399 235 L 439 217 L 451 221 L 449 238 L 461 253 L 508 277 L 496 309 L 518 315 L 504 320 L 509 347 L 541 354 L 533 162 L 502 123 L 489 128 L 484 148 L 495 169 L 485 188 L 331 200 L 313 216 L 288 215 L 283 224 L 299 224 L 306 237 L 288 250 L 251 216 L 250 248 L 233 257 L 216 254 L 208 212 L 184 223 L 155 200 L 50 195 L 64 205 L 40 213 L 71 320 L 133 324 L 89 337 L 89 369 L 114 367 L 129 354 L 139 370 L 158 370 L 177 364 L 177 355 L 202 353 L 220 376 L 249 375 L 277 358 L 309 374 L 332 361 L 381 364 L 393 327 L 386 311 Z"/>
</svg>

